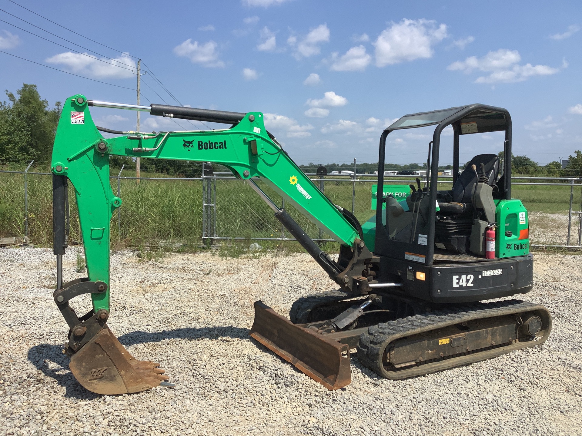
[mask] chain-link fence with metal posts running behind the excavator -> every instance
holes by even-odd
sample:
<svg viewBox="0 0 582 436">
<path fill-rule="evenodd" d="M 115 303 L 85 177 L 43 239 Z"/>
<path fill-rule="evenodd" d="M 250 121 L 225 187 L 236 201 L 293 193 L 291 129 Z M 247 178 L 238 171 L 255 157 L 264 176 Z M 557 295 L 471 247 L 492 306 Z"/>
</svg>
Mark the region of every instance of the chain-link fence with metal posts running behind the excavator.
<svg viewBox="0 0 582 436">
<path fill-rule="evenodd" d="M 110 224 L 113 248 L 290 240 L 249 184 L 221 167 L 214 171 L 204 168 L 201 177 L 147 174 L 151 177 L 139 180 L 127 176 L 129 171 L 123 167 L 112 170 L 112 190 L 123 200 Z M 309 176 L 334 204 L 352 210 L 361 223 L 375 215 L 371 209 L 372 185 L 377 182 L 374 174 Z M 385 184 L 406 187 L 415 184 L 417 177 L 422 178 L 387 175 Z M 256 183 L 276 205 L 284 206 L 311 238 L 331 241 L 330 235 L 285 203 L 268 184 L 258 179 Z M 439 177 L 439 189 L 450 189 L 451 183 L 451 178 Z M 531 245 L 582 248 L 581 178 L 512 177 L 512 196 L 521 199 L 529 212 Z M 74 198 L 71 185 L 69 198 Z M 76 202 L 70 201 L 70 208 L 70 240 L 80 242 Z M 51 174 L 31 170 L 31 165 L 23 165 L 21 170 L 0 170 L 0 242 L 25 241 L 52 244 Z"/>
</svg>

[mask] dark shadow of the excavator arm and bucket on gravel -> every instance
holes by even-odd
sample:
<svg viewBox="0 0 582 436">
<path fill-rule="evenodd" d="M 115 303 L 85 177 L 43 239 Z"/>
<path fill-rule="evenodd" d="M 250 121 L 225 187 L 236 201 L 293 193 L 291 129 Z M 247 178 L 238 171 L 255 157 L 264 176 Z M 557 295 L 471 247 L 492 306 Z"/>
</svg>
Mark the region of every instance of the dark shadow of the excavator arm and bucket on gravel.
<svg viewBox="0 0 582 436">
<path fill-rule="evenodd" d="M 215 326 L 203 328 L 176 328 L 156 332 L 133 331 L 121 335 L 118 339 L 123 346 L 160 342 L 164 339 L 218 339 L 221 337 L 249 339 L 248 328 L 233 326 Z M 147 356 L 139 356 L 147 358 Z M 38 344 L 31 346 L 28 360 L 42 373 L 51 377 L 59 386 L 65 387 L 65 397 L 72 399 L 95 399 L 101 395 L 94 394 L 82 387 L 69 370 L 69 357 L 63 353 L 62 345 Z"/>
</svg>

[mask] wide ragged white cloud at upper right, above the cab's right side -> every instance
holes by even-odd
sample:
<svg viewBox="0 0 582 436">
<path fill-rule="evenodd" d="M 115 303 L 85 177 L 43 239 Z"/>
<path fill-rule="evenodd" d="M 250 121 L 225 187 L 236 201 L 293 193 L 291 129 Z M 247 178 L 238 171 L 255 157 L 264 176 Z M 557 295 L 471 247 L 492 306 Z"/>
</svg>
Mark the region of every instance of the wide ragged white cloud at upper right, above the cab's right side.
<svg viewBox="0 0 582 436">
<path fill-rule="evenodd" d="M 532 76 L 548 76 L 559 72 L 558 68 L 547 65 L 519 65 L 521 56 L 517 50 L 499 49 L 489 52 L 482 58 L 471 56 L 465 60 L 457 60 L 450 64 L 447 69 L 450 71 L 462 71 L 466 74 L 473 70 L 491 73 L 488 76 L 477 77 L 475 83 L 513 83 L 527 80 Z M 563 63 L 562 67 L 566 67 Z"/>
</svg>

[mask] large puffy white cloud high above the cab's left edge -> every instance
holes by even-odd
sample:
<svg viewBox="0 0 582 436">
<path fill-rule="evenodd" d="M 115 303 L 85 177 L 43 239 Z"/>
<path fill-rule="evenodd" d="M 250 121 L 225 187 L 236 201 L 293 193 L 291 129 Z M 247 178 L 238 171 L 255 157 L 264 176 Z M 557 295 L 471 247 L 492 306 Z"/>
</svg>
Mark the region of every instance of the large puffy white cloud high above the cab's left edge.
<svg viewBox="0 0 582 436">
<path fill-rule="evenodd" d="M 446 24 L 438 27 L 434 20 L 407 20 L 393 23 L 372 44 L 376 48 L 376 65 L 383 67 L 414 59 L 431 58 L 432 45 L 447 36 Z"/>
</svg>

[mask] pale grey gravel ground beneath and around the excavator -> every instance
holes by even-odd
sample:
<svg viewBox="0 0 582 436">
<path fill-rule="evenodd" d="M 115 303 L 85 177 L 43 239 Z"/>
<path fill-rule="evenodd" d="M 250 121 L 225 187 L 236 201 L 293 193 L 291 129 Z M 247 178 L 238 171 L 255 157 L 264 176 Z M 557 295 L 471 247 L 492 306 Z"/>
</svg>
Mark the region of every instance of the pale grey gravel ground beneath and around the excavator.
<svg viewBox="0 0 582 436">
<path fill-rule="evenodd" d="M 83 275 L 73 249 L 63 263 L 65 280 Z M 62 354 L 52 251 L 0 249 L 1 434 L 582 434 L 582 256 L 536 255 L 526 299 L 552 312 L 544 345 L 404 381 L 378 378 L 354 357 L 352 384 L 334 392 L 248 337 L 255 300 L 286 315 L 300 296 L 334 288 L 307 255 L 157 263 L 120 252 L 111 267 L 109 326 L 176 387 L 81 388 Z"/>
</svg>

